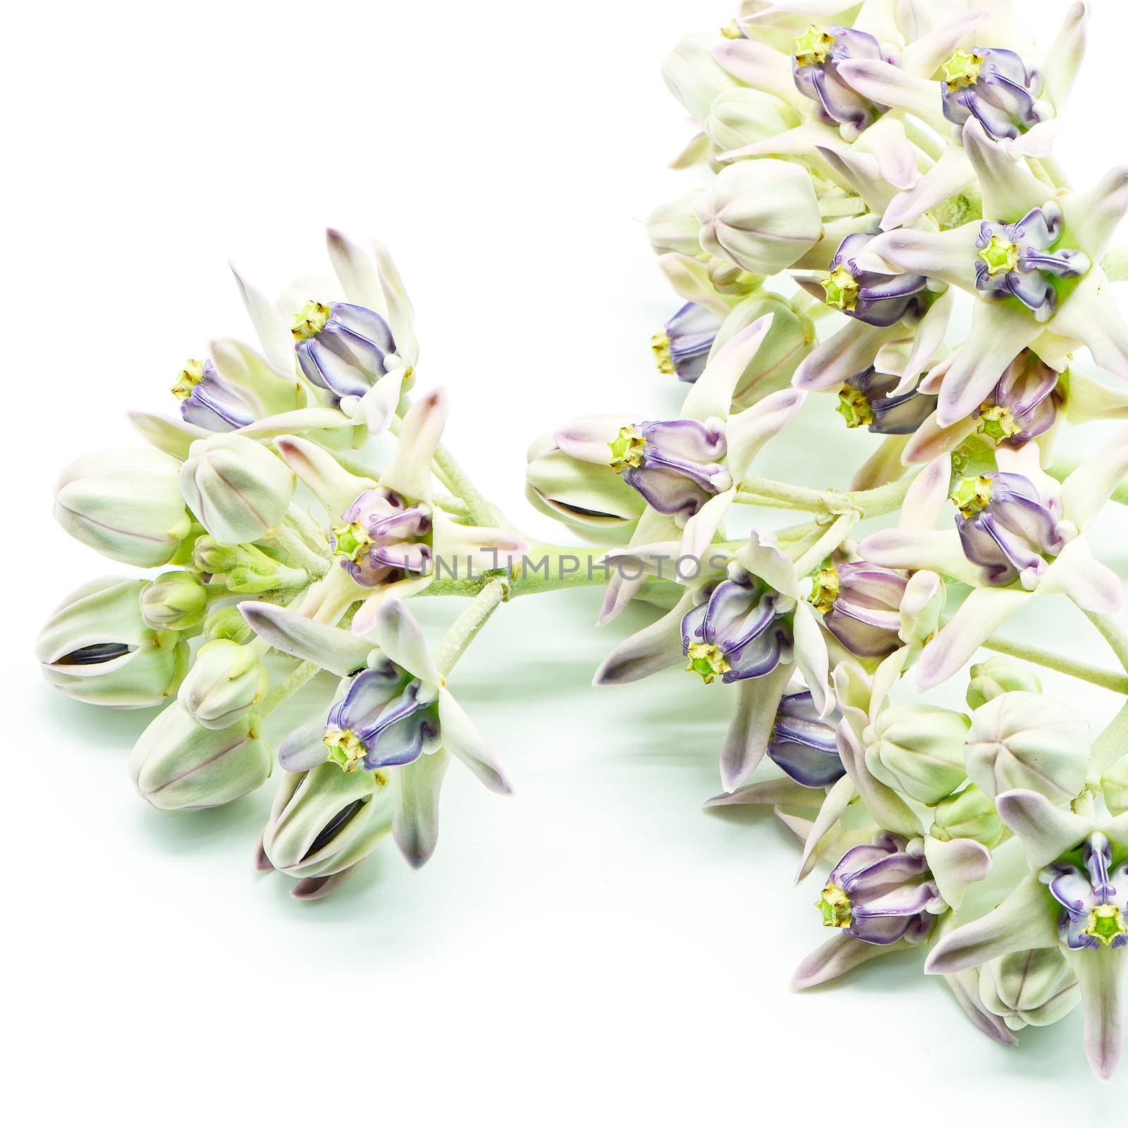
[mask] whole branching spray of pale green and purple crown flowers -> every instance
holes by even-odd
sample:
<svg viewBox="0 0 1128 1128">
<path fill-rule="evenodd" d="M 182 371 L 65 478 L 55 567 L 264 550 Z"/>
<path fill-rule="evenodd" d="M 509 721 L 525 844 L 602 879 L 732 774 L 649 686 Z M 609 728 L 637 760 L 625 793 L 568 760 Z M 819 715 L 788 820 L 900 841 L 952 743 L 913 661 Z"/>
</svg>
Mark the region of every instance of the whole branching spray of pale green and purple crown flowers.
<svg viewBox="0 0 1128 1128">
<path fill-rule="evenodd" d="M 1090 540 L 1128 497 L 1128 426 L 1084 433 L 1084 459 L 1051 453 L 1067 425 L 1128 417 L 1109 287 L 1128 167 L 1074 187 L 1054 157 L 1087 0 L 1048 45 L 1008 0 L 982 8 L 743 0 L 667 58 L 694 120 L 676 164 L 696 180 L 649 221 L 678 298 L 650 346 L 684 399 L 530 447 L 530 502 L 598 543 L 579 579 L 523 567 L 526 539 L 442 447 L 447 397 L 415 390 L 412 306 L 381 245 L 329 231 L 336 282 L 279 301 L 238 276 L 257 344 L 197 351 L 177 409 L 133 415 L 148 447 L 83 456 L 56 488 L 69 534 L 148 570 L 72 592 L 37 646 L 72 697 L 165 706 L 131 759 L 140 794 L 218 805 L 277 766 L 257 864 L 297 896 L 386 837 L 421 865 L 451 756 L 510 790 L 447 685 L 485 620 L 553 587 L 605 584 L 600 624 L 645 596 L 662 613 L 596 682 L 677 669 L 703 712 L 732 698 L 710 805 L 769 805 L 799 876 L 826 863 L 812 923 L 830 938 L 795 985 L 916 949 L 998 1042 L 1079 1002 L 1111 1076 L 1128 723 L 1094 737 L 1031 663 L 1121 696 L 1128 672 L 998 631 L 1050 597 L 1128 671 L 1123 584 Z M 848 476 L 764 476 L 809 450 L 802 421 L 837 428 Z M 459 561 L 465 578 L 441 579 Z M 448 594 L 470 602 L 431 645 L 411 601 Z M 315 677 L 308 723 L 268 731 Z M 926 698 L 945 684 L 966 708 Z M 994 858 L 1012 837 L 1028 865 L 1007 883 Z M 994 881 L 997 907 L 967 911 Z"/>
</svg>

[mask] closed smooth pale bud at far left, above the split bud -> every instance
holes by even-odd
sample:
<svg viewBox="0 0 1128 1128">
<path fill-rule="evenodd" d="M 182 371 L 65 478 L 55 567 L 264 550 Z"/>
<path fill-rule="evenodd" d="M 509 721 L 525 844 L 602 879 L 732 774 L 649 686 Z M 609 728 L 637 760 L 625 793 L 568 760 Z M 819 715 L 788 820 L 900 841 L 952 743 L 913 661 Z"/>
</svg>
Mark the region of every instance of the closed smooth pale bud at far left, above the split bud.
<svg viewBox="0 0 1128 1128">
<path fill-rule="evenodd" d="M 103 556 L 159 567 L 192 530 L 178 475 L 180 464 L 159 450 L 83 455 L 55 487 L 55 520 Z"/>
</svg>

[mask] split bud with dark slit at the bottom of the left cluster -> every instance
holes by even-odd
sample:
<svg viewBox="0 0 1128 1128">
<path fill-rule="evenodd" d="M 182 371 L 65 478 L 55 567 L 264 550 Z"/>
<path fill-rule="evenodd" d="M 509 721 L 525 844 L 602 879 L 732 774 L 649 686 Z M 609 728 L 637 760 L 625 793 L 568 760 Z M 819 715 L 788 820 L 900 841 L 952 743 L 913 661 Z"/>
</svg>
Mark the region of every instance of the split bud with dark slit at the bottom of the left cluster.
<svg viewBox="0 0 1128 1128">
<path fill-rule="evenodd" d="M 263 854 L 292 878 L 341 873 L 391 832 L 394 790 L 386 772 L 342 772 L 336 764 L 288 772 L 263 831 Z"/>
</svg>

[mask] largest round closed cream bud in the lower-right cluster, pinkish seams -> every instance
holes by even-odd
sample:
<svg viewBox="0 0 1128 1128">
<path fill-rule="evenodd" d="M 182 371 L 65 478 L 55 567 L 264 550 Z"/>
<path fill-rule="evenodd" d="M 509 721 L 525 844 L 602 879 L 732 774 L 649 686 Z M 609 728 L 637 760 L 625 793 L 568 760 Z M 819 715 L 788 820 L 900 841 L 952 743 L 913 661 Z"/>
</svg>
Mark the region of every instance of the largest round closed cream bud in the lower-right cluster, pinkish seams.
<svg viewBox="0 0 1128 1128">
<path fill-rule="evenodd" d="M 1011 690 L 971 714 L 968 776 L 993 799 L 1024 787 L 1064 803 L 1085 786 L 1090 743 L 1089 722 L 1064 702 Z"/>
</svg>

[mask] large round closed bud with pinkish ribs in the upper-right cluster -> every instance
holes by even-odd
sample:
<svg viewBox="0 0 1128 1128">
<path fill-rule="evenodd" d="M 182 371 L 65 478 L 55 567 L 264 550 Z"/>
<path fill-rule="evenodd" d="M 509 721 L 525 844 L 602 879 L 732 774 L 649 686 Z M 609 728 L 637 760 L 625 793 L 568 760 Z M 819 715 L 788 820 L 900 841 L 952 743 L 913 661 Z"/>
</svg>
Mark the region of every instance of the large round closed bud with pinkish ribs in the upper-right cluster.
<svg viewBox="0 0 1128 1128">
<path fill-rule="evenodd" d="M 702 249 L 757 274 L 786 270 L 822 238 L 810 174 L 783 160 L 743 160 L 723 168 L 695 213 Z"/>
</svg>

